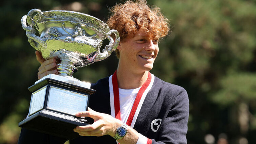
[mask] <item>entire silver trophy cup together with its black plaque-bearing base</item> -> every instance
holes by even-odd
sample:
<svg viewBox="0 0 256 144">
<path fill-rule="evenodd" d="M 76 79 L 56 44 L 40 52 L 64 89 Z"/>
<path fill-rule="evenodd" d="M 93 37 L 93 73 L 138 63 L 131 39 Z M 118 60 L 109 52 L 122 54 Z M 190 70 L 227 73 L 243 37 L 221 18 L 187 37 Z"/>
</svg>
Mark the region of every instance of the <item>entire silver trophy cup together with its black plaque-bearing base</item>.
<svg viewBox="0 0 256 144">
<path fill-rule="evenodd" d="M 32 93 L 29 112 L 20 127 L 73 139 L 76 126 L 91 124 L 75 114 L 87 111 L 95 92 L 90 83 L 72 77 L 78 67 L 101 61 L 119 44 L 119 33 L 90 15 L 66 10 L 32 9 L 21 19 L 28 42 L 44 59 L 56 58 L 58 75 L 49 74 L 28 88 Z M 36 35 L 36 30 L 40 37 Z M 115 40 L 110 36 L 115 35 Z M 109 44 L 100 52 L 102 41 Z"/>
</svg>

